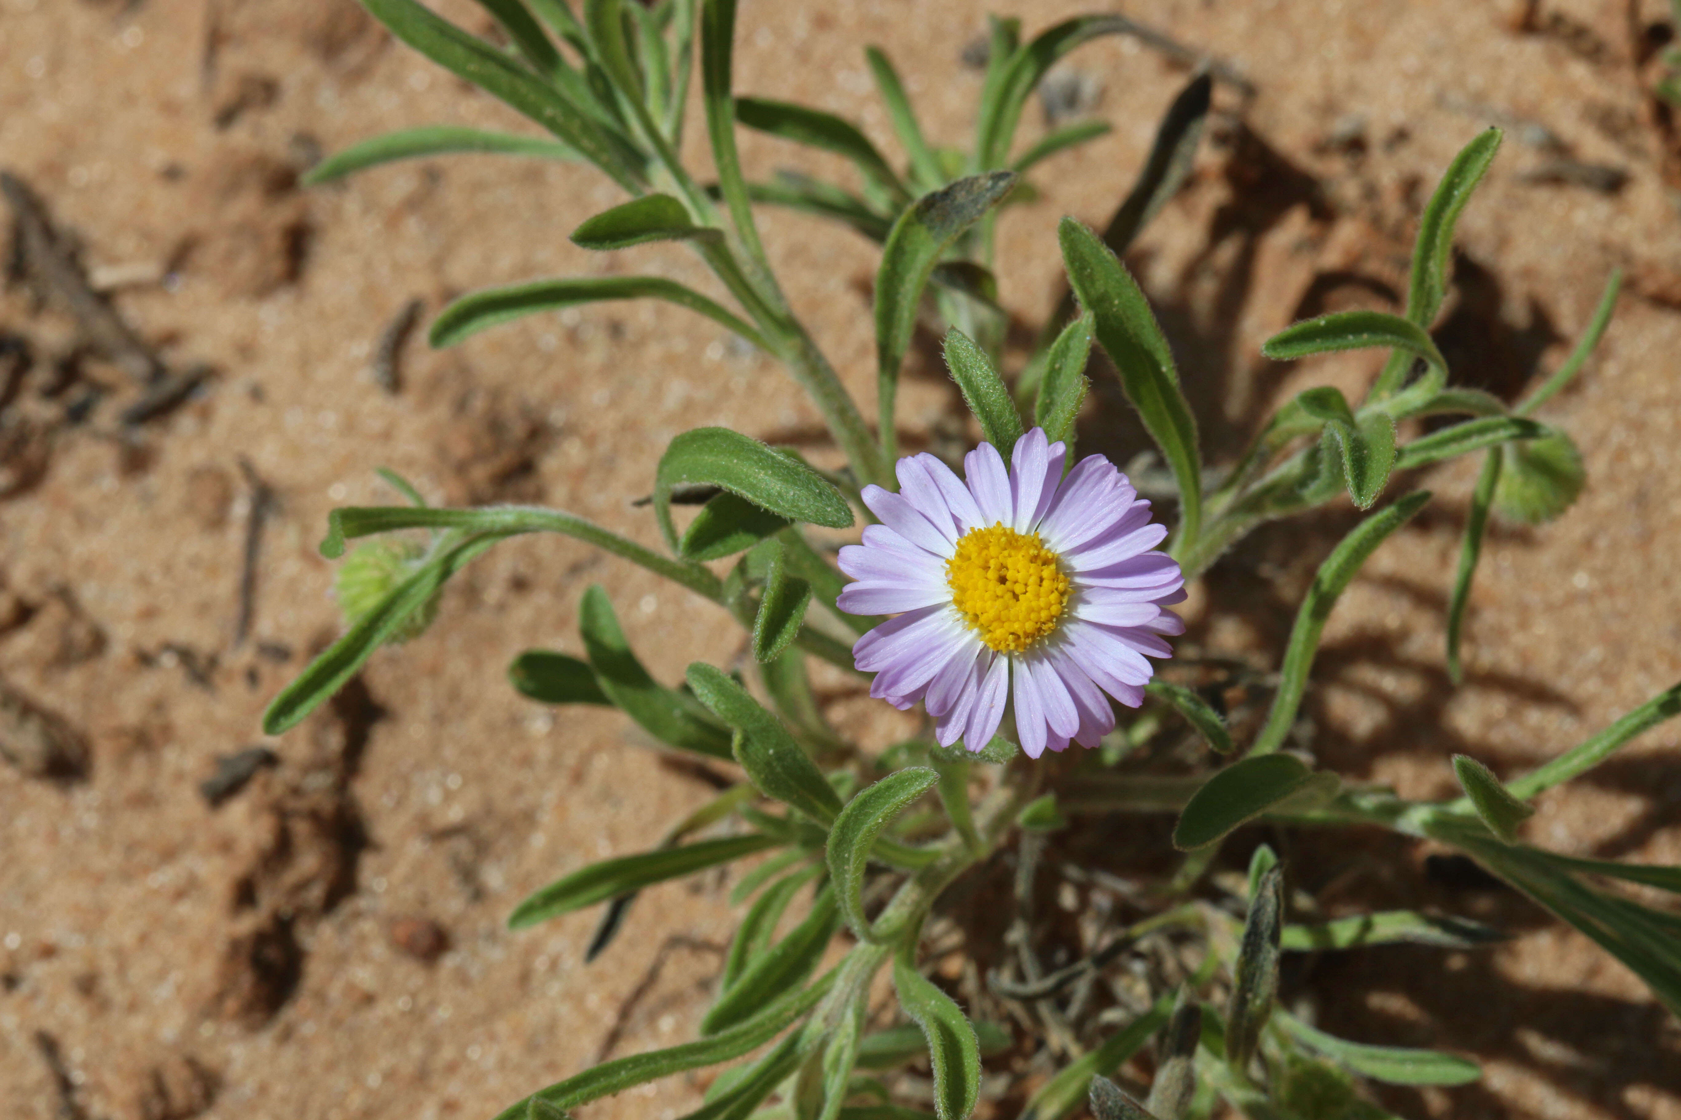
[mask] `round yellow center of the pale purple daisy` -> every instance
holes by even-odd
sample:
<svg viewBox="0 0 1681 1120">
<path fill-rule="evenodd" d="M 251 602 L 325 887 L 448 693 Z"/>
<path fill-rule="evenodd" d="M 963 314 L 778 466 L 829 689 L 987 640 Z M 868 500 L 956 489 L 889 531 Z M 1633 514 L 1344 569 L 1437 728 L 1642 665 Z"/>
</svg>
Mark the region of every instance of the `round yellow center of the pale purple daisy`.
<svg viewBox="0 0 1681 1120">
<path fill-rule="evenodd" d="M 1056 552 L 1037 532 L 1002 522 L 958 537 L 946 584 L 956 610 L 999 653 L 1020 653 L 1049 636 L 1067 604 L 1067 576 Z"/>
</svg>

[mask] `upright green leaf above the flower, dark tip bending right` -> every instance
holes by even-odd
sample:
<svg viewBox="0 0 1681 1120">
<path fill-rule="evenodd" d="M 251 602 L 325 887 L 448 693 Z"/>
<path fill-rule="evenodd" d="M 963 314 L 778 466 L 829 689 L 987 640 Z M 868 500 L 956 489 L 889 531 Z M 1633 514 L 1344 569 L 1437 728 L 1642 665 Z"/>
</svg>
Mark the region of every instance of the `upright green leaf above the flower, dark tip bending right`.
<svg viewBox="0 0 1681 1120">
<path fill-rule="evenodd" d="M 1015 173 L 993 171 L 958 180 L 906 207 L 881 250 L 876 272 L 876 379 L 881 401 L 881 440 L 893 457 L 893 406 L 899 366 L 911 344 L 923 289 L 941 254 L 997 207 L 1015 185 Z"/>
</svg>

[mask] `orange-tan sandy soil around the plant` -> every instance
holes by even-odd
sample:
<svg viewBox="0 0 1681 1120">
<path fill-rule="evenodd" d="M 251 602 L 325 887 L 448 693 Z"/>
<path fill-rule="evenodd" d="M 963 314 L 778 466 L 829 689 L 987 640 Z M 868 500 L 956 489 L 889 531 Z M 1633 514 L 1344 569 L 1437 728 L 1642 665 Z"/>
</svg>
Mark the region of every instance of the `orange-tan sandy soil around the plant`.
<svg viewBox="0 0 1681 1120">
<path fill-rule="evenodd" d="M 486 24 L 464 2 L 445 10 Z M 1014 10 L 1035 30 L 1083 8 Z M 1442 670 L 1442 606 L 1474 463 L 1427 477 L 1431 510 L 1338 606 L 1309 712 L 1316 749 L 1348 774 L 1441 794 L 1454 751 L 1523 767 L 1681 677 L 1681 153 L 1642 92 L 1663 10 L 1128 5 L 1257 87 L 1247 106 L 1220 94 L 1220 136 L 1131 260 L 1219 453 L 1236 452 L 1267 401 L 1370 374 L 1362 361 L 1278 369 L 1257 344 L 1320 307 L 1383 304 L 1385 285 L 1404 282 L 1417 208 L 1484 124 L 1511 134 L 1461 223 L 1459 296 L 1441 331 L 1457 376 L 1516 395 L 1562 359 L 1612 265 L 1631 275 L 1600 354 L 1547 408 L 1584 450 L 1587 492 L 1557 524 L 1493 536 L 1468 685 L 1454 692 Z M 960 0 L 748 3 L 738 86 L 844 113 L 891 149 L 862 62 L 879 42 L 930 131 L 955 141 L 980 81 L 958 55 L 983 17 Z M 264 704 L 331 638 L 333 568 L 314 546 L 331 505 L 393 499 L 375 467 L 440 502 L 541 500 L 654 544 L 630 500 L 666 440 L 723 423 L 832 457 L 815 413 L 709 322 L 630 304 L 437 354 L 415 338 L 400 391 L 382 390 L 375 348 L 410 299 L 435 312 L 521 277 L 704 277 L 676 249 L 572 247 L 566 232 L 617 201 L 580 168 L 461 158 L 299 191 L 296 173 L 319 151 L 385 129 L 519 128 L 348 0 L 0 0 L 0 165 L 76 232 L 96 275 L 128 280 L 114 306 L 171 369 L 215 369 L 124 442 L 116 413 L 136 390 L 123 369 L 91 359 L 81 381 L 52 385 L 71 319 L 18 285 L 0 296 L 0 331 L 35 354 L 0 432 L 24 475 L 0 479 L 17 490 L 0 499 L 0 680 L 87 759 L 72 782 L 0 766 L 0 1115 L 482 1117 L 609 1051 L 691 1036 L 731 929 L 725 883 L 647 892 L 634 929 L 590 967 L 593 913 L 503 929 L 531 888 L 647 846 L 706 796 L 624 719 L 543 710 L 503 677 L 523 648 L 577 650 L 575 604 L 592 581 L 657 675 L 740 655 L 713 608 L 652 576 L 563 539 L 504 544 L 451 586 L 432 631 L 382 652 L 360 690 L 269 742 L 277 766 L 217 809 L 198 782 L 262 742 Z M 1133 42 L 1088 47 L 1071 65 L 1101 84 L 1096 111 L 1116 128 L 1047 165 L 1041 198 L 1002 223 L 1002 297 L 1027 322 L 1056 299 L 1056 220 L 1108 217 L 1183 81 Z M 704 165 L 698 126 L 689 141 Z M 765 138 L 743 143 L 758 170 L 849 175 Z M 1626 183 L 1555 181 L 1580 178 L 1580 165 L 1619 168 Z M 763 228 L 867 411 L 872 250 L 783 213 Z M 62 423 L 89 385 L 108 391 L 82 401 L 86 421 Z M 956 408 L 923 358 L 903 393 L 906 427 L 948 438 Z M 1120 457 L 1140 448 L 1113 393 L 1083 438 Z M 267 517 L 237 640 L 252 502 Z M 1346 524 L 1330 512 L 1234 552 L 1192 603 L 1192 640 L 1279 648 L 1291 596 Z M 864 719 L 856 700 L 842 707 Z M 1676 735 L 1654 732 L 1548 794 L 1526 835 L 1676 863 Z M 1368 897 L 1521 930 L 1446 972 L 1436 955 L 1397 950 L 1306 981 L 1326 1018 L 1362 1038 L 1486 1060 L 1479 1086 L 1397 1095 L 1397 1110 L 1681 1117 L 1681 1031 L 1627 971 L 1535 910 L 1427 878 L 1420 850 L 1373 851 L 1383 863 L 1362 871 Z M 676 1117 L 701 1086 L 674 1078 L 585 1115 Z"/>
</svg>

